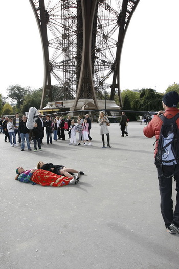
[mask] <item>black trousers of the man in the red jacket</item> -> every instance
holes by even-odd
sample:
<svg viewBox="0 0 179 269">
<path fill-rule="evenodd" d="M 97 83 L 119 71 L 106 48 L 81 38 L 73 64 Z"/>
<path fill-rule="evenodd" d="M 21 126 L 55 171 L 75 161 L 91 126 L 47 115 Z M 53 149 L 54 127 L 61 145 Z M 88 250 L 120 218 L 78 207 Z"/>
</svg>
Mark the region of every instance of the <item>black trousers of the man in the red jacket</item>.
<svg viewBox="0 0 179 269">
<path fill-rule="evenodd" d="M 164 171 L 170 172 L 170 170 L 171 167 L 166 165 Z M 172 222 L 179 226 L 179 173 L 176 173 L 173 177 L 176 181 L 176 205 L 174 211 L 172 200 L 173 178 L 161 176 L 161 170 L 158 168 L 159 190 L 161 194 L 161 213 L 166 227 L 169 227 Z"/>
</svg>

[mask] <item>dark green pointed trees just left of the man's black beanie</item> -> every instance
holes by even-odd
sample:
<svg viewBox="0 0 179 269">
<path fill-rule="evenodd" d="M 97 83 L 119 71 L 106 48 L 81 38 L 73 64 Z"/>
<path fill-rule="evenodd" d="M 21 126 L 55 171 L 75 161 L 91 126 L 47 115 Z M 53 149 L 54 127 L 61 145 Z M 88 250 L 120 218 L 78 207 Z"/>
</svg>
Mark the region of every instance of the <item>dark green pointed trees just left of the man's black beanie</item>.
<svg viewBox="0 0 179 269">
<path fill-rule="evenodd" d="M 140 97 L 133 101 L 133 110 L 159 111 L 162 110 L 162 94 L 155 93 L 153 89 L 141 89 Z"/>
</svg>

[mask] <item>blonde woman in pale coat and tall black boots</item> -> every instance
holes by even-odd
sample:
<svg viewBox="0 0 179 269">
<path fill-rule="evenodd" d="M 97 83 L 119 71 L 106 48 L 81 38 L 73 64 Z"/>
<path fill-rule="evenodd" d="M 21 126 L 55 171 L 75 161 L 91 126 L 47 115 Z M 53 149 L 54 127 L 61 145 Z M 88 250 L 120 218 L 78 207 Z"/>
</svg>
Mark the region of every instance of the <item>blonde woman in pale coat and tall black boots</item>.
<svg viewBox="0 0 179 269">
<path fill-rule="evenodd" d="M 104 135 L 106 134 L 107 136 L 107 147 L 112 148 L 109 144 L 109 130 L 107 128 L 106 122 L 109 123 L 109 120 L 106 116 L 104 116 L 104 112 L 101 111 L 99 114 L 99 119 L 98 119 L 99 125 L 100 125 L 100 135 L 102 136 L 102 141 L 103 141 L 103 146 L 102 148 L 106 148 L 105 147 L 105 143 L 104 143 Z"/>
</svg>

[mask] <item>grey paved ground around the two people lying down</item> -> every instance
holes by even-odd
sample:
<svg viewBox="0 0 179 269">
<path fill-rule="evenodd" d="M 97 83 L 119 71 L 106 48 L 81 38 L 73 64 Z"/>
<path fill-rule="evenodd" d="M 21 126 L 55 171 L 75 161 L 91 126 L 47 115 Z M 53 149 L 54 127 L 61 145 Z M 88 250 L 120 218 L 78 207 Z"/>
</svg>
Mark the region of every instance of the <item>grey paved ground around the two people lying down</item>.
<svg viewBox="0 0 179 269">
<path fill-rule="evenodd" d="M 129 123 L 129 136 L 120 137 L 119 125 L 110 125 L 113 148 L 101 148 L 94 123 L 91 147 L 68 146 L 66 139 L 42 152 L 20 152 L 0 134 L 0 267 L 178 269 L 179 237 L 165 231 L 160 213 L 155 139 L 143 128 Z M 39 160 L 85 175 L 59 188 L 14 180 L 18 165 L 30 169 Z"/>
</svg>

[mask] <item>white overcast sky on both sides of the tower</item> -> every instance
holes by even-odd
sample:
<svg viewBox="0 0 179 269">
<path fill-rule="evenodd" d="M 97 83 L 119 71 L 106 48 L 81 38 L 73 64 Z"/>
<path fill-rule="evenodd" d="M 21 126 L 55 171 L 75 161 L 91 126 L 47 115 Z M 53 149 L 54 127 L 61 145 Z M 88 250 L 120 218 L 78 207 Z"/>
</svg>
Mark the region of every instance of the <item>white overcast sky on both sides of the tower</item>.
<svg viewBox="0 0 179 269">
<path fill-rule="evenodd" d="M 1 2 L 1 88 L 43 86 L 43 56 L 29 0 Z M 178 0 L 140 0 L 124 40 L 121 90 L 165 92 L 178 79 Z"/>
</svg>

